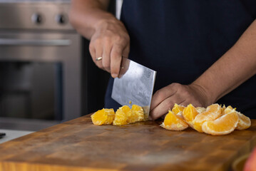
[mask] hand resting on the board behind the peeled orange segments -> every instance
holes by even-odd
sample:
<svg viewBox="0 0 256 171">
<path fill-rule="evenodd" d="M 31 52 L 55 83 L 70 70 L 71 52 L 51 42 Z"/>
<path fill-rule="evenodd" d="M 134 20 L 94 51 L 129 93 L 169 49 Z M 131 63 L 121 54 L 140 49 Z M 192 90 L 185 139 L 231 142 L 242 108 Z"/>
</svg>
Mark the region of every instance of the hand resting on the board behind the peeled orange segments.
<svg viewBox="0 0 256 171">
<path fill-rule="evenodd" d="M 192 103 L 195 107 L 206 107 L 212 103 L 205 90 L 190 84 L 189 86 L 179 83 L 172 83 L 161 88 L 153 95 L 150 106 L 150 117 L 155 120 L 168 113 L 173 108 L 174 103 L 188 105 Z"/>
</svg>

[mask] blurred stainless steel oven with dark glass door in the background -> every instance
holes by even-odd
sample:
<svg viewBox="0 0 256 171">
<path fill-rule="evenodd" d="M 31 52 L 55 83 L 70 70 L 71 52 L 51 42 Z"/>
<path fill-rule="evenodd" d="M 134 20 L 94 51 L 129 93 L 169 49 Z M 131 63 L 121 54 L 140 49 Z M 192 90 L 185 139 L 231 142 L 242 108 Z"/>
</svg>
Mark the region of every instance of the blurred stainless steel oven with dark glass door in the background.
<svg viewBox="0 0 256 171">
<path fill-rule="evenodd" d="M 81 36 L 70 2 L 0 0 L 0 128 L 39 130 L 81 116 Z"/>
</svg>

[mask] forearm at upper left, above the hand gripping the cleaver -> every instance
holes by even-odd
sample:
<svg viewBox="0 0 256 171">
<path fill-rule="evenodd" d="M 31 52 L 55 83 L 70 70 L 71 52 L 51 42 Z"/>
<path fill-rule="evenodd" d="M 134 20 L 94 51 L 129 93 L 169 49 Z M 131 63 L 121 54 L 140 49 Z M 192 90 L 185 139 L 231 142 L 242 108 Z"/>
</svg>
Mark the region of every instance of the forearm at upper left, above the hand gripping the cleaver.
<svg viewBox="0 0 256 171">
<path fill-rule="evenodd" d="M 109 0 L 72 0 L 69 19 L 76 30 L 88 39 L 98 24 L 115 21 L 116 17 L 108 13 Z"/>
</svg>

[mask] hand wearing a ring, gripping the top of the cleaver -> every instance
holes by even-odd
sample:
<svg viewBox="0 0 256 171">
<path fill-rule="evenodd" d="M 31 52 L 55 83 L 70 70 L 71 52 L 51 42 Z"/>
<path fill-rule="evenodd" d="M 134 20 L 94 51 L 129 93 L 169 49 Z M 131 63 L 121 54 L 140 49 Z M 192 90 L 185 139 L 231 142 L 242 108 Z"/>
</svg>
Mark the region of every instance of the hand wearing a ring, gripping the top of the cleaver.
<svg viewBox="0 0 256 171">
<path fill-rule="evenodd" d="M 122 56 L 128 58 L 130 51 L 130 37 L 123 23 L 118 19 L 100 21 L 91 37 L 89 51 L 98 68 L 108 71 L 113 78 L 118 77 Z M 98 57 L 102 60 L 96 61 Z"/>
</svg>

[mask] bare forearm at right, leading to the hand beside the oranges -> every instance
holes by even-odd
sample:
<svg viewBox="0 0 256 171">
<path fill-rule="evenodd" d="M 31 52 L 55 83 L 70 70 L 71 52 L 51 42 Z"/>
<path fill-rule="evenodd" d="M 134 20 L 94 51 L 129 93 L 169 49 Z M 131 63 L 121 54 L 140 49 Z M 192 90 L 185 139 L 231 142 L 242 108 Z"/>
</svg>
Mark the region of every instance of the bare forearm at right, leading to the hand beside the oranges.
<svg viewBox="0 0 256 171">
<path fill-rule="evenodd" d="M 208 105 L 240 86 L 256 73 L 256 21 L 242 34 L 213 66 L 192 85 L 199 86 L 208 97 Z"/>
</svg>

